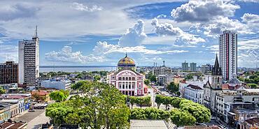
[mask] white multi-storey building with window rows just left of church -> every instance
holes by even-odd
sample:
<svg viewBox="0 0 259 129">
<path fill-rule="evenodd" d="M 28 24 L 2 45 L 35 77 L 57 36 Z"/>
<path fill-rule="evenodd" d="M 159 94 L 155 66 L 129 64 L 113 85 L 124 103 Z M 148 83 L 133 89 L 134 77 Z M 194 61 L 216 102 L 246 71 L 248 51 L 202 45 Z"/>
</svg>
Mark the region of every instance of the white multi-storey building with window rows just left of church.
<svg viewBox="0 0 259 129">
<path fill-rule="evenodd" d="M 203 104 L 203 89 L 200 86 L 188 84 L 184 89 L 184 98 Z"/>
</svg>

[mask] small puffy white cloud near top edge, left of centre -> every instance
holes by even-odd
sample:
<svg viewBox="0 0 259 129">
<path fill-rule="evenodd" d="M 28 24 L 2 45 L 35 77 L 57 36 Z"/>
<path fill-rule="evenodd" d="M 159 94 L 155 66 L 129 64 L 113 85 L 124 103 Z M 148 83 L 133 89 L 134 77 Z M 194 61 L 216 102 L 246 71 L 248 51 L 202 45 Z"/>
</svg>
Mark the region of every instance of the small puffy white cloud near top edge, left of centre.
<svg viewBox="0 0 259 129">
<path fill-rule="evenodd" d="M 85 6 L 83 3 L 73 2 L 71 8 L 80 11 L 94 12 L 98 10 L 102 10 L 102 6 L 93 5 L 92 7 Z"/>
</svg>

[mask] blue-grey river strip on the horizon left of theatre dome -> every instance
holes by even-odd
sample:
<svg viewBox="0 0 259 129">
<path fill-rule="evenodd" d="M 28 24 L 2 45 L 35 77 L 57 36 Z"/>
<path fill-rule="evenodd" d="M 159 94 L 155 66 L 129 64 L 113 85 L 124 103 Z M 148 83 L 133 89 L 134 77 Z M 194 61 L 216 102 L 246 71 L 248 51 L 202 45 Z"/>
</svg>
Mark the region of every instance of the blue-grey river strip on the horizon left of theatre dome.
<svg viewBox="0 0 259 129">
<path fill-rule="evenodd" d="M 40 66 L 40 73 L 45 72 L 89 72 L 89 71 L 113 71 L 116 66 Z"/>
</svg>

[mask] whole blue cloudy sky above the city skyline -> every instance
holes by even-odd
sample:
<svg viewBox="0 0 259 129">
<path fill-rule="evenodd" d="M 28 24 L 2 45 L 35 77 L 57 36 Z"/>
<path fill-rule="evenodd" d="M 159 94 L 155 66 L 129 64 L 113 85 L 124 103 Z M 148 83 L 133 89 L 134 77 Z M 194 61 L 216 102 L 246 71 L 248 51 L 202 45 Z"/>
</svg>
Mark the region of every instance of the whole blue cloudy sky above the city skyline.
<svg viewBox="0 0 259 129">
<path fill-rule="evenodd" d="M 259 65 L 259 0 L 0 1 L 0 62 L 38 26 L 40 65 L 214 64 L 218 35 L 238 35 L 238 67 Z"/>
</svg>

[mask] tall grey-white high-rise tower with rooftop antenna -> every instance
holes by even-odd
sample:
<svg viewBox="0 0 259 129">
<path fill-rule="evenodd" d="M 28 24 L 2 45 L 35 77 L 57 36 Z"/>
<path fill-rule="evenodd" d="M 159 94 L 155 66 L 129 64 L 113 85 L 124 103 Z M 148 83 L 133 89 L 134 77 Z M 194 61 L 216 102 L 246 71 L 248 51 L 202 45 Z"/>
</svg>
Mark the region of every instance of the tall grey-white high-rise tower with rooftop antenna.
<svg viewBox="0 0 259 129">
<path fill-rule="evenodd" d="M 39 77 L 39 40 L 37 26 L 31 40 L 19 41 L 19 84 L 37 86 Z"/>
</svg>

